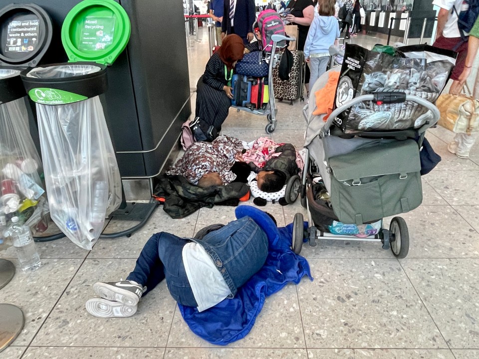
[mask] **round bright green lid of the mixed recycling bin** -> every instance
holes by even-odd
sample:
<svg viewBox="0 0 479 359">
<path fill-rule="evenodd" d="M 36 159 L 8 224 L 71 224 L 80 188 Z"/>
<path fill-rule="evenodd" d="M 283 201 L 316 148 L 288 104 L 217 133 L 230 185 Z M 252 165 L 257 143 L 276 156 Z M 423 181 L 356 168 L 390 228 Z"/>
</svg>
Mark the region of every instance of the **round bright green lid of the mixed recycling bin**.
<svg viewBox="0 0 479 359">
<path fill-rule="evenodd" d="M 111 65 L 130 38 L 130 19 L 114 0 L 84 0 L 75 5 L 61 27 L 61 41 L 72 62 Z"/>
</svg>

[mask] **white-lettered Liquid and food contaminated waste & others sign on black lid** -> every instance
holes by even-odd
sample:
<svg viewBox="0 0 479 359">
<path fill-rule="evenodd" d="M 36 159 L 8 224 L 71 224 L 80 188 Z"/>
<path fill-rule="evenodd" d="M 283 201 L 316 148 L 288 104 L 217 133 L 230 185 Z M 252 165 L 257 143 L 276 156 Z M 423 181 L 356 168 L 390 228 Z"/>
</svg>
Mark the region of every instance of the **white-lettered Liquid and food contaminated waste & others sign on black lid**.
<svg viewBox="0 0 479 359">
<path fill-rule="evenodd" d="M 30 52 L 38 45 L 40 19 L 12 20 L 8 23 L 5 52 Z"/>
</svg>

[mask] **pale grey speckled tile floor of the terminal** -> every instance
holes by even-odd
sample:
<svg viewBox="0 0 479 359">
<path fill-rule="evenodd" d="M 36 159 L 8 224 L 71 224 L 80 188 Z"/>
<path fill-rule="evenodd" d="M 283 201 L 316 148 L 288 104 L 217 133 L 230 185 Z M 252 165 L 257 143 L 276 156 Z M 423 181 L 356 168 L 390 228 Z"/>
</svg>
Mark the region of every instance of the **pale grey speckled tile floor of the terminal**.
<svg viewBox="0 0 479 359">
<path fill-rule="evenodd" d="M 208 60 L 206 33 L 191 37 L 191 87 Z M 371 47 L 385 39 L 360 35 Z M 192 105 L 194 106 L 192 98 Z M 278 142 L 302 146 L 302 103 L 278 104 Z M 251 141 L 264 136 L 264 118 L 231 110 L 224 133 Z M 25 327 L 2 359 L 476 359 L 479 358 L 479 145 L 470 160 L 447 151 L 452 133 L 427 135 L 443 161 L 423 178 L 423 204 L 406 219 L 411 249 L 397 260 L 377 243 L 323 240 L 305 245 L 314 281 L 288 285 L 268 298 L 249 335 L 226 348 L 212 346 L 187 327 L 162 283 L 131 318 L 98 319 L 84 308 L 96 281 L 125 278 L 145 241 L 158 231 L 192 236 L 205 224 L 234 219 L 233 207 L 201 209 L 171 219 L 159 208 L 130 238 L 100 240 L 84 251 L 66 239 L 38 243 L 42 267 L 18 271 L 0 290 L 0 303 L 19 306 Z M 266 209 L 280 225 L 297 203 Z M 386 218 L 388 223 L 390 218 Z M 111 221 L 109 231 L 121 228 Z M 12 248 L 0 257 L 14 259 Z"/>
</svg>

